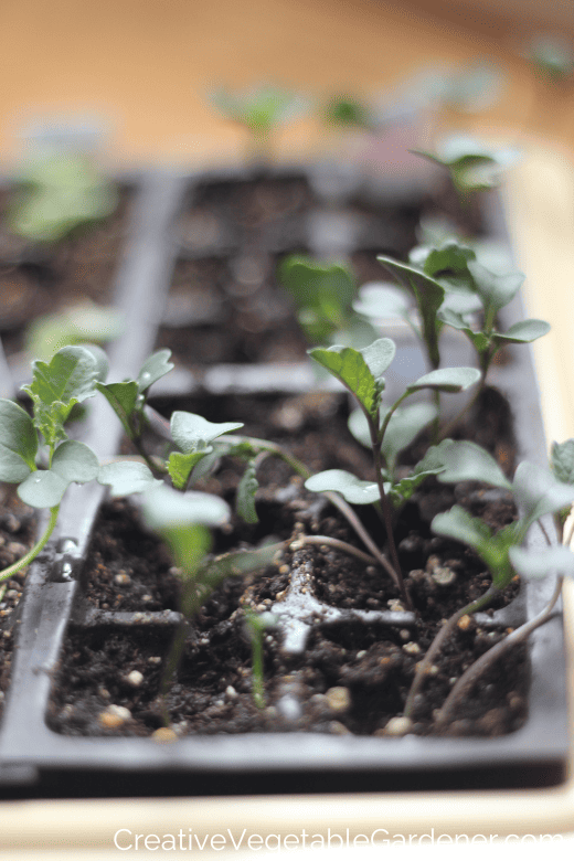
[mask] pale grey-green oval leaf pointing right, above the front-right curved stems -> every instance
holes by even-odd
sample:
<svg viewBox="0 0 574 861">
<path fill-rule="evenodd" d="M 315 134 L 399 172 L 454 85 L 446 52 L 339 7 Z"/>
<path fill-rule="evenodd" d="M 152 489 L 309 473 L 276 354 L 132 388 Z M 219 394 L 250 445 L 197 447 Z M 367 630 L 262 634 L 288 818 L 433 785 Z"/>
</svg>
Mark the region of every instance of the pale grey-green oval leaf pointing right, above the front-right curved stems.
<svg viewBox="0 0 574 861">
<path fill-rule="evenodd" d="M 438 476 L 443 483 L 485 481 L 507 490 L 512 487 L 495 458 L 476 443 L 444 439 L 438 446 L 428 449 L 427 457 L 443 465 L 444 469 Z"/>
</svg>

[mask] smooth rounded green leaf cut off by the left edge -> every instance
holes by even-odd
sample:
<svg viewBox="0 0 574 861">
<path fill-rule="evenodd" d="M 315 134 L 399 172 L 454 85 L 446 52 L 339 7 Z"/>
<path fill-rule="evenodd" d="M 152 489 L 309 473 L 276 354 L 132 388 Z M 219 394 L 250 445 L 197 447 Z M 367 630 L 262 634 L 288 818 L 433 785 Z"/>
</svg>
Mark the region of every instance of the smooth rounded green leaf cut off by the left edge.
<svg viewBox="0 0 574 861">
<path fill-rule="evenodd" d="M 35 469 L 34 423 L 13 401 L 0 398 L 0 481 L 18 483 Z"/>
</svg>

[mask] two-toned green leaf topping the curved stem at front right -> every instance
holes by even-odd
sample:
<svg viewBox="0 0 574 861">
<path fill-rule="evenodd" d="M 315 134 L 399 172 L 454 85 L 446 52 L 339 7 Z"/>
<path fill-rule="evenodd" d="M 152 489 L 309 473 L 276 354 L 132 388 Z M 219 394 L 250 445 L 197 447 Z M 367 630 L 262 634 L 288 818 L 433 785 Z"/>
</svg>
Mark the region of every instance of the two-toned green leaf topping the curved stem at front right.
<svg viewBox="0 0 574 861">
<path fill-rule="evenodd" d="M 480 518 L 472 518 L 460 506 L 453 506 L 450 511 L 437 514 L 433 519 L 431 529 L 438 535 L 455 539 L 476 550 L 488 565 L 492 583 L 497 588 L 506 588 L 514 576 L 509 551 L 515 545 L 520 535 L 515 523 L 510 523 L 509 527 L 493 533 Z"/>
</svg>

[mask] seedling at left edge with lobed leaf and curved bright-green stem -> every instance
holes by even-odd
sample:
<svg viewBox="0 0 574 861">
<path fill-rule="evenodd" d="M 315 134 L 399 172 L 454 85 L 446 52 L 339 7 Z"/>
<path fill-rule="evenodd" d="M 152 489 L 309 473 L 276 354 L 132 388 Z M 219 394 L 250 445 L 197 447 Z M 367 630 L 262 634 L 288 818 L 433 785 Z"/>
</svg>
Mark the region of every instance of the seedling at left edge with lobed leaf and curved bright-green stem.
<svg viewBox="0 0 574 861">
<path fill-rule="evenodd" d="M 105 379 L 107 360 L 98 348 L 65 347 L 52 361 L 35 361 L 24 391 L 33 414 L 13 401 L 0 400 L 0 480 L 18 485 L 28 506 L 49 509 L 47 525 L 33 548 L 0 572 L 7 580 L 29 565 L 47 543 L 56 525 L 62 498 L 72 482 L 96 478 L 98 460 L 84 443 L 67 438 L 65 429 L 75 404 L 92 397 Z"/>
</svg>

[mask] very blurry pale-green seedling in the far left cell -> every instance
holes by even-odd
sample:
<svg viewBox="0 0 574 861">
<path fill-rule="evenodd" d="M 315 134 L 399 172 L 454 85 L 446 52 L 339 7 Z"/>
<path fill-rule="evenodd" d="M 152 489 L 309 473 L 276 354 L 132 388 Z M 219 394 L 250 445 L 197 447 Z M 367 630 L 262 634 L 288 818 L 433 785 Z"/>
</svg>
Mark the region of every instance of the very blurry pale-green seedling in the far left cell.
<svg viewBox="0 0 574 861">
<path fill-rule="evenodd" d="M 31 242 L 59 242 L 77 227 L 110 215 L 117 189 L 82 153 L 36 153 L 23 166 L 8 211 L 11 231 Z"/>
</svg>

